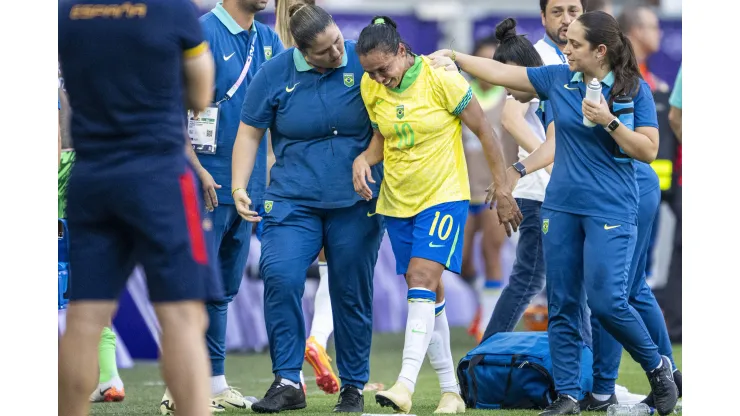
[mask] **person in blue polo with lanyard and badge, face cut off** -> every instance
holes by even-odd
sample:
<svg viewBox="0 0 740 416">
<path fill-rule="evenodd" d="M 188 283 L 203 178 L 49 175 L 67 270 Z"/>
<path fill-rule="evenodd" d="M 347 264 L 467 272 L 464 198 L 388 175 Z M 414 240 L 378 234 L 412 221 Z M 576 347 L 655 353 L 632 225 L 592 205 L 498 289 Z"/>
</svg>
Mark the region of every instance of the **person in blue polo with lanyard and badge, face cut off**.
<svg viewBox="0 0 740 416">
<path fill-rule="evenodd" d="M 211 357 L 211 397 L 224 409 L 248 407 L 244 396 L 226 382 L 226 315 L 229 303 L 239 292 L 249 253 L 252 223 L 236 212 L 231 197 L 231 153 L 247 86 L 271 57 L 283 51 L 277 34 L 254 16 L 263 10 L 262 0 L 223 0 L 200 18 L 203 36 L 213 51 L 216 65 L 215 103 L 218 113 L 213 117 L 215 138 L 208 144 L 193 141 L 190 160 L 203 185 L 207 218 L 213 223 L 214 252 L 218 253 L 224 296 L 206 304 L 208 331 L 206 341 Z M 211 110 L 215 111 L 215 110 Z M 189 129 L 191 138 L 194 136 Z M 261 203 L 266 187 L 267 141 L 257 153 L 254 174 L 248 190 L 255 204 Z M 165 403 L 168 403 L 165 405 Z M 161 407 L 174 409 L 165 392 Z M 166 410 L 166 409 L 163 409 Z"/>
</svg>

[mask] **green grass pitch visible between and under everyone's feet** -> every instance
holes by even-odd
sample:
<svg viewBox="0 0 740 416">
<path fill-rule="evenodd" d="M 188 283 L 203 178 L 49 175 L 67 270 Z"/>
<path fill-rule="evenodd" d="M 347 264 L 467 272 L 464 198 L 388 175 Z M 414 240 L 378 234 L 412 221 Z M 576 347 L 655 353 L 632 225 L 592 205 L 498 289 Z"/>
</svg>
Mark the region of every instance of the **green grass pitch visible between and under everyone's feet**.
<svg viewBox="0 0 740 416">
<path fill-rule="evenodd" d="M 463 357 L 474 346 L 474 341 L 461 328 L 452 329 L 452 356 L 457 360 Z M 401 368 L 403 334 L 378 334 L 373 337 L 372 356 L 370 358 L 370 382 L 383 383 L 390 387 Z M 681 368 L 681 346 L 674 346 L 676 363 Z M 331 353 L 331 352 L 330 352 Z M 333 354 L 332 354 L 333 355 Z M 335 367 L 336 368 L 336 367 Z M 273 381 L 270 357 L 268 354 L 229 355 L 226 359 L 226 372 L 229 383 L 239 389 L 245 396 L 262 397 Z M 295 415 L 326 415 L 331 413 L 337 396 L 328 396 L 321 392 L 314 382 L 313 370 L 304 366 L 308 388 L 308 407 L 301 411 L 284 412 Z M 126 387 L 126 400 L 117 404 L 95 404 L 93 415 L 156 415 L 159 414 L 159 402 L 164 393 L 164 383 L 159 374 L 159 367 L 150 363 L 137 363 L 133 369 L 122 370 L 121 378 Z M 631 392 L 647 394 L 650 387 L 639 365 L 628 355 L 623 356 L 618 383 L 627 386 Z M 414 405 L 411 413 L 431 415 L 439 401 L 439 384 L 437 376 L 428 363 L 422 368 L 414 394 Z M 250 411 L 245 411 L 251 413 Z M 494 411 L 468 410 L 468 414 L 491 414 Z M 390 408 L 381 408 L 375 403 L 374 393 L 365 392 L 365 413 L 392 413 Z M 504 416 L 530 416 L 536 411 L 495 411 Z M 587 415 L 589 413 L 583 413 Z M 605 415 L 605 413 L 593 413 Z"/>
</svg>

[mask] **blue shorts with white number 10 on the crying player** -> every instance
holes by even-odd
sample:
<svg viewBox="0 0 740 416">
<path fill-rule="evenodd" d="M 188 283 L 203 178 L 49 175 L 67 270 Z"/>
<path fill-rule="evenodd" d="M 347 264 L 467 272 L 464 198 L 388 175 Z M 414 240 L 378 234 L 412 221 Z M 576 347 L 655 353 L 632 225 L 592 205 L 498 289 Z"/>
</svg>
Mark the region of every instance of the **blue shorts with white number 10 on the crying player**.
<svg viewBox="0 0 740 416">
<path fill-rule="evenodd" d="M 412 257 L 435 261 L 460 274 L 465 221 L 470 201 L 445 202 L 409 218 L 385 217 L 396 257 L 396 273 L 406 274 Z"/>
</svg>

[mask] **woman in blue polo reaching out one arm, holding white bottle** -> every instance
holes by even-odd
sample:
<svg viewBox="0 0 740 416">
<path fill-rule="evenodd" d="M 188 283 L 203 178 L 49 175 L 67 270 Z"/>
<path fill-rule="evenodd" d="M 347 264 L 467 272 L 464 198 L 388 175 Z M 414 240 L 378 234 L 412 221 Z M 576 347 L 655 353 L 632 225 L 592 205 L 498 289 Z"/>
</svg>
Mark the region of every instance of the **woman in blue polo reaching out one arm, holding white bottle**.
<svg viewBox="0 0 740 416">
<path fill-rule="evenodd" d="M 548 336 L 559 394 L 541 414 L 580 412 L 579 322 L 586 301 L 592 315 L 641 364 L 658 412 L 668 414 L 678 400 L 670 360 L 660 355 L 627 293 L 637 237 L 634 160 L 649 163 L 657 155 L 655 103 L 613 17 L 585 13 L 571 23 L 567 38 L 563 53 L 568 66 L 522 68 L 447 50 L 434 56 L 444 61 L 439 65 L 448 65 L 448 57 L 456 55 L 456 63 L 471 75 L 550 100 L 558 143 L 552 143 L 555 165 L 541 216 Z M 585 83 L 593 78 L 602 84 L 599 103 L 584 100 Z M 610 110 L 612 97 L 621 96 L 633 97 L 634 130 Z M 597 126 L 585 126 L 584 116 Z M 528 160 L 536 161 L 537 154 Z M 520 163 L 515 173 L 524 176 L 530 165 Z"/>
</svg>

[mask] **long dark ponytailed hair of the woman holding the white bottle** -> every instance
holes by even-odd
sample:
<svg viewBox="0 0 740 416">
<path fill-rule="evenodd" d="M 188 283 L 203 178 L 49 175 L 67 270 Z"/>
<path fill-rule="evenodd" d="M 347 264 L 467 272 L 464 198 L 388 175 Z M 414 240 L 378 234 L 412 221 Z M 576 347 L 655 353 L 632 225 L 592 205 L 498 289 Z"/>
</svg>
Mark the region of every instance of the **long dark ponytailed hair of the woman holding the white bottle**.
<svg viewBox="0 0 740 416">
<path fill-rule="evenodd" d="M 586 32 L 592 48 L 606 45 L 606 58 L 614 72 L 611 96 L 634 95 L 640 88 L 640 67 L 637 65 L 632 42 L 619 30 L 617 21 L 602 11 L 588 12 L 577 19 Z"/>
</svg>

